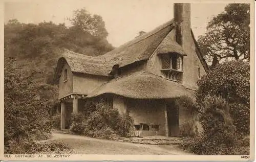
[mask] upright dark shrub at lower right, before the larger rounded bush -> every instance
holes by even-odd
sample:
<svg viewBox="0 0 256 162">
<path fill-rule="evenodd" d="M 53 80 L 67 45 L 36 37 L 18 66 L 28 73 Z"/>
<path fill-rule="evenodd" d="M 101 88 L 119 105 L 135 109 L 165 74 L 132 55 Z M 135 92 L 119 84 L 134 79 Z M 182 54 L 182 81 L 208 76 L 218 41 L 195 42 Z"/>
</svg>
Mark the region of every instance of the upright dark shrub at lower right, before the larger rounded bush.
<svg viewBox="0 0 256 162">
<path fill-rule="evenodd" d="M 203 155 L 235 154 L 238 146 L 228 103 L 222 98 L 207 96 L 201 106 L 199 121 L 203 133 L 185 138 L 181 148 Z"/>
</svg>

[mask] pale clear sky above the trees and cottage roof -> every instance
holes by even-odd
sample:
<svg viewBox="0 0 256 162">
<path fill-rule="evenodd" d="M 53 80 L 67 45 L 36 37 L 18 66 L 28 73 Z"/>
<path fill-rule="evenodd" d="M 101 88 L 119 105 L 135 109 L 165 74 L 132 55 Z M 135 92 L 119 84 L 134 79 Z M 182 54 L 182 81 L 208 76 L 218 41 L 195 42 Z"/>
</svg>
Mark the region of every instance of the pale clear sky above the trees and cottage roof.
<svg viewBox="0 0 256 162">
<path fill-rule="evenodd" d="M 203 35 L 211 18 L 224 12 L 227 4 L 191 4 L 191 28 L 196 39 Z M 45 0 L 11 1 L 5 3 L 5 23 L 16 18 L 19 22 L 53 21 L 70 25 L 73 11 L 85 8 L 91 14 L 102 16 L 108 41 L 114 46 L 124 44 L 138 35 L 149 32 L 173 18 L 170 0 Z"/>
</svg>

